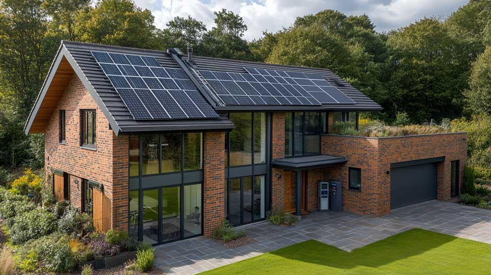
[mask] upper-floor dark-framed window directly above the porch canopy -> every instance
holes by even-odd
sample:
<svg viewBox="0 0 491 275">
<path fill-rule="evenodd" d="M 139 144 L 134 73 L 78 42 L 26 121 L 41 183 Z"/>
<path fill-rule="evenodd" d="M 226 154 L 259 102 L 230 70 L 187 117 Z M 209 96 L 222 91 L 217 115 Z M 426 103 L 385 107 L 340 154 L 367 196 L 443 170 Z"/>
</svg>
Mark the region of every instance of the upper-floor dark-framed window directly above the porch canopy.
<svg viewBox="0 0 491 275">
<path fill-rule="evenodd" d="M 319 112 L 285 114 L 285 157 L 319 155 L 320 133 L 325 131 Z"/>
</svg>

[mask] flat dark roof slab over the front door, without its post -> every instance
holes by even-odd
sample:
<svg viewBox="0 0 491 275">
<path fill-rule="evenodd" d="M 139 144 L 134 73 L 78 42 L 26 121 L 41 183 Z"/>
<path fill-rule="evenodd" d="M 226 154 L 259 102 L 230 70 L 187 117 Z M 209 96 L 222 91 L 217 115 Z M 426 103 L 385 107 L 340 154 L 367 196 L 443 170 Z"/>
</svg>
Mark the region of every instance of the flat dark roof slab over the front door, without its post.
<svg viewBox="0 0 491 275">
<path fill-rule="evenodd" d="M 334 166 L 338 163 L 345 163 L 348 160 L 339 156 L 307 156 L 299 158 L 286 158 L 271 161 L 274 168 L 282 168 L 291 171 L 301 171 L 315 168 Z"/>
</svg>

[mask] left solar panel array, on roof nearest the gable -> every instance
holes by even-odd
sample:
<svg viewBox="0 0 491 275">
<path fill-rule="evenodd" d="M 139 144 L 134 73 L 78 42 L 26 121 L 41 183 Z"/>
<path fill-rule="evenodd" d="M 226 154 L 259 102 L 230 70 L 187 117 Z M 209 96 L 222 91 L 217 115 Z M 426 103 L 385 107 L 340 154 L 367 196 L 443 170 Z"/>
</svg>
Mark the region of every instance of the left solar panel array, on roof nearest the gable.
<svg viewBox="0 0 491 275">
<path fill-rule="evenodd" d="M 219 117 L 180 68 L 154 57 L 92 52 L 134 119 Z"/>
</svg>

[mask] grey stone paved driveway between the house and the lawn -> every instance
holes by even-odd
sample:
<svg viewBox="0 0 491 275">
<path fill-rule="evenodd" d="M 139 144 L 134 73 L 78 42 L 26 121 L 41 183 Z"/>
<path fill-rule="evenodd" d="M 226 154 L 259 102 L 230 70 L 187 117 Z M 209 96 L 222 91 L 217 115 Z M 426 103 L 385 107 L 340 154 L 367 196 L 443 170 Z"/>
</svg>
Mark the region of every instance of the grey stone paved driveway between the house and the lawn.
<svg viewBox="0 0 491 275">
<path fill-rule="evenodd" d="M 197 237 L 163 244 L 155 249 L 154 264 L 166 273 L 196 274 L 309 239 L 350 251 L 415 227 L 491 244 L 491 211 L 430 201 L 380 218 L 322 211 L 302 216 L 293 227 L 254 223 L 241 228 L 255 243 L 229 249 Z"/>
</svg>

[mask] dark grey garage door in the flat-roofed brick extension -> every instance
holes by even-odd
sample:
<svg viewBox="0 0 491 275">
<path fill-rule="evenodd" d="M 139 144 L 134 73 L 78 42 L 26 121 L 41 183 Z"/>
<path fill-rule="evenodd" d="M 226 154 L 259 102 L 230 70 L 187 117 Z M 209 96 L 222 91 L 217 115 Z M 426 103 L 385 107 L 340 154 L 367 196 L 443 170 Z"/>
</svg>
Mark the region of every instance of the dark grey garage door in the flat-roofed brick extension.
<svg viewBox="0 0 491 275">
<path fill-rule="evenodd" d="M 391 168 L 391 209 L 430 201 L 436 195 L 436 163 Z"/>
</svg>

